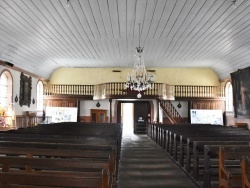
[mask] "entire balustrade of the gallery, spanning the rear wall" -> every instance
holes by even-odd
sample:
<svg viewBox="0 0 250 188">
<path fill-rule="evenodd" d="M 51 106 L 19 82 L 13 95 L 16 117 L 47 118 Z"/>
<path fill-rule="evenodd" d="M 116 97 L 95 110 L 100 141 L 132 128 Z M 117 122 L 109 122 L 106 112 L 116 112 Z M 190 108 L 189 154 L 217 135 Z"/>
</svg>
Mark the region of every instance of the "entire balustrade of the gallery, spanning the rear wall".
<svg viewBox="0 0 250 188">
<path fill-rule="evenodd" d="M 136 99 L 138 92 L 124 89 L 125 82 L 104 83 L 98 85 L 45 85 L 44 98 L 75 99 Z M 160 100 L 224 100 L 225 91 L 222 86 L 188 86 L 154 83 L 152 89 L 141 92 L 142 99 Z"/>
</svg>

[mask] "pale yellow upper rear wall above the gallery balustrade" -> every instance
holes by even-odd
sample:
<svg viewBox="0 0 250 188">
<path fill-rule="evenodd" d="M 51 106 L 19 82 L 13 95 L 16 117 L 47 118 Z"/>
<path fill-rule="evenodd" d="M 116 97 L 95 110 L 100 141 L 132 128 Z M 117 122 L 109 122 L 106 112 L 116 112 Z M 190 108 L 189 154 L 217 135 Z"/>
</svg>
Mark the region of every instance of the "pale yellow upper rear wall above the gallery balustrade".
<svg viewBox="0 0 250 188">
<path fill-rule="evenodd" d="M 121 70 L 121 72 L 112 72 Z M 108 82 L 126 82 L 131 68 L 59 68 L 50 78 L 50 84 L 95 85 Z M 219 86 L 219 78 L 210 68 L 150 68 L 155 70 L 154 82 L 171 85 Z"/>
</svg>

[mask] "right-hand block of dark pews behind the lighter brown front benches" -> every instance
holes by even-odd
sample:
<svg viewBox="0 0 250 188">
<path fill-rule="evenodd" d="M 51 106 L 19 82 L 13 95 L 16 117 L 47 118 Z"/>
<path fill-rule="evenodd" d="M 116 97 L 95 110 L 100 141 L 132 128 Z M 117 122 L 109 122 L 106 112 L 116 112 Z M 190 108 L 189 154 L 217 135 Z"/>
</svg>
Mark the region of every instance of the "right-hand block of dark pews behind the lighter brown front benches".
<svg viewBox="0 0 250 188">
<path fill-rule="evenodd" d="M 228 144 L 249 145 L 250 142 L 248 130 L 217 125 L 149 124 L 147 131 L 148 136 L 192 179 L 208 188 L 218 187 L 219 147 Z"/>
</svg>

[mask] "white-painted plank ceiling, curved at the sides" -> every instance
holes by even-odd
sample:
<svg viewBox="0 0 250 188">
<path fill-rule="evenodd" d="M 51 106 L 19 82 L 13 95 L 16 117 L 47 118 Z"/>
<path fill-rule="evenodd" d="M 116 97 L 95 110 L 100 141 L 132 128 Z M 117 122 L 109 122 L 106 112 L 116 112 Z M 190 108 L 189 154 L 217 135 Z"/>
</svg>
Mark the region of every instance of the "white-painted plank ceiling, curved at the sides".
<svg viewBox="0 0 250 188">
<path fill-rule="evenodd" d="M 0 60 L 49 79 L 59 67 L 250 66 L 250 0 L 0 0 Z"/>
</svg>

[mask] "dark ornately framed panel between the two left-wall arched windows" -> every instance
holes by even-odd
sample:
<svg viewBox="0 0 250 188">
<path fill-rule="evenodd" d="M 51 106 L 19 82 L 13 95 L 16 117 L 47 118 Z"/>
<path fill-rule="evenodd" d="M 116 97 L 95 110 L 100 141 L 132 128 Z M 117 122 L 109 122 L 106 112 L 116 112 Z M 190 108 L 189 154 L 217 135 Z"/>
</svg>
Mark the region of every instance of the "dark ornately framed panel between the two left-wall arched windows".
<svg viewBox="0 0 250 188">
<path fill-rule="evenodd" d="M 19 93 L 19 104 L 20 106 L 27 105 L 30 107 L 31 103 L 31 76 L 25 76 L 21 73 L 20 76 L 20 93 Z"/>
</svg>

